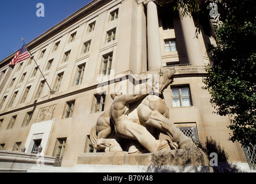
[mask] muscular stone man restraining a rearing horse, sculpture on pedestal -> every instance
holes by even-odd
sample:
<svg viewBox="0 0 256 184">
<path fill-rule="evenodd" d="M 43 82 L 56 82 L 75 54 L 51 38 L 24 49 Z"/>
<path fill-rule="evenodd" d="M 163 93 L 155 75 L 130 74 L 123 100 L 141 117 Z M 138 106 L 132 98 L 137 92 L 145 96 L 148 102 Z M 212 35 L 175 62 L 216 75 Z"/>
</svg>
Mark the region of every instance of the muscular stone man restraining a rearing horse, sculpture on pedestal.
<svg viewBox="0 0 256 184">
<path fill-rule="evenodd" d="M 155 152 L 165 147 L 173 150 L 196 147 L 192 140 L 169 120 L 169 108 L 164 99 L 159 97 L 173 82 L 174 74 L 174 68 L 161 67 L 159 80 L 154 81 L 152 87 L 143 86 L 139 94 L 122 94 L 120 91 L 112 94 L 112 105 L 99 116 L 97 124 L 91 129 L 92 145 L 105 152 L 119 152 L 128 147 L 129 154 Z M 136 108 L 138 121 L 128 118 L 131 106 Z M 149 131 L 150 128 L 164 132 L 170 139 L 156 139 L 157 136 Z M 120 142 L 125 143 L 120 145 Z"/>
</svg>

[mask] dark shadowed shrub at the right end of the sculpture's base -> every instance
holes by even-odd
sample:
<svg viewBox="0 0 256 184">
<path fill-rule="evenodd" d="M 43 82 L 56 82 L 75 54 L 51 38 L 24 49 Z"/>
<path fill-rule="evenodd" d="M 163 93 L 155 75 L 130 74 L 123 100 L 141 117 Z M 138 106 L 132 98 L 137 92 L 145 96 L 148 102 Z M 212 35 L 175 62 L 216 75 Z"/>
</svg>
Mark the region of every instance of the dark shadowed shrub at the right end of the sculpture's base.
<svg viewBox="0 0 256 184">
<path fill-rule="evenodd" d="M 228 154 L 225 152 L 223 148 L 221 148 L 220 143 L 217 143 L 212 137 L 206 137 L 206 143 L 199 144 L 199 148 L 201 148 L 205 154 L 208 156 L 209 160 L 210 154 L 215 152 L 218 155 L 218 166 L 213 166 L 214 173 L 242 173 L 236 164 L 228 162 Z"/>
</svg>

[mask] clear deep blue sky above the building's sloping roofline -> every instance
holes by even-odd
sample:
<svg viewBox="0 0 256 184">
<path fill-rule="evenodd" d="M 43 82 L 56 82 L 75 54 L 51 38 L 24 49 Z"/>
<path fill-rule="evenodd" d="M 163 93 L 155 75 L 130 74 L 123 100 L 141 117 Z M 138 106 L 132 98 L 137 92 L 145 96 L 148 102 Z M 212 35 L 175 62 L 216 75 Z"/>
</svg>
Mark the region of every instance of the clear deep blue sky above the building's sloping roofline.
<svg viewBox="0 0 256 184">
<path fill-rule="evenodd" d="M 0 5 L 0 61 L 92 0 L 10 0 Z M 37 17 L 38 3 L 44 17 Z"/>
</svg>

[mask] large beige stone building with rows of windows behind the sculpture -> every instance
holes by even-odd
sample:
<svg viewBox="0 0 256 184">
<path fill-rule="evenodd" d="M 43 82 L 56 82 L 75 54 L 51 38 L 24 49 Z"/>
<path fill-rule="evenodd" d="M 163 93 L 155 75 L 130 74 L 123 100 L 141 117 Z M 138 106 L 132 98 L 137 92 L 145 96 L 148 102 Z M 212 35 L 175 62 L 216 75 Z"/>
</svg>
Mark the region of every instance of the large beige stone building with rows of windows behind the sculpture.
<svg viewBox="0 0 256 184">
<path fill-rule="evenodd" d="M 154 0 L 93 0 L 30 41 L 33 57 L 13 67 L 16 52 L 3 59 L 0 152 L 41 152 L 72 167 L 79 155 L 96 152 L 90 131 L 112 104 L 111 82 L 173 67 L 163 93 L 170 120 L 195 143 L 216 145 L 226 161 L 250 168 L 251 155 L 229 141 L 229 117 L 213 113 L 202 89 L 212 30 L 197 39 L 193 19 L 180 14 Z"/>
</svg>

